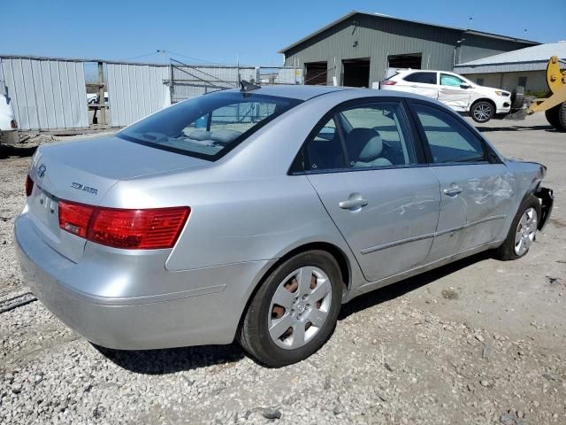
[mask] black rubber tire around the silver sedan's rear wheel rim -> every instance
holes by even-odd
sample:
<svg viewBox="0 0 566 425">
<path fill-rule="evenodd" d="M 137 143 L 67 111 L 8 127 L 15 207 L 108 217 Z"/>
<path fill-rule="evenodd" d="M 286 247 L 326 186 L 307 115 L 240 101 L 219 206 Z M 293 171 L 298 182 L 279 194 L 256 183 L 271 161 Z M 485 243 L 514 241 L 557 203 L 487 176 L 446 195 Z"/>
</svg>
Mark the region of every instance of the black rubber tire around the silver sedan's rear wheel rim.
<svg viewBox="0 0 566 425">
<path fill-rule="evenodd" d="M 331 305 L 326 320 L 312 339 L 297 349 L 285 349 L 272 341 L 268 329 L 268 312 L 273 295 L 289 274 L 301 267 L 318 267 L 331 284 Z M 305 251 L 276 267 L 261 283 L 252 298 L 238 331 L 238 341 L 246 352 L 268 367 L 283 367 L 302 359 L 322 347 L 332 335 L 338 320 L 342 298 L 342 276 L 333 256 L 326 251 Z"/>
</svg>

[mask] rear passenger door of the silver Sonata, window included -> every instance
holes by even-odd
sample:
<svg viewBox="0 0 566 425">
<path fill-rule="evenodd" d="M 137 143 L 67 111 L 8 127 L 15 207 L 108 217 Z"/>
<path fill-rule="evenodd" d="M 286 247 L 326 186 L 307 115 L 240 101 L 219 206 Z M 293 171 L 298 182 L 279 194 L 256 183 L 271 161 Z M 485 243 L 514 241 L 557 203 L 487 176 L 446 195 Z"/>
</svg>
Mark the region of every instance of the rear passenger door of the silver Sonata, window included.
<svg viewBox="0 0 566 425">
<path fill-rule="evenodd" d="M 350 102 L 303 148 L 308 178 L 368 281 L 423 263 L 438 221 L 439 182 L 405 110 L 399 99 Z"/>
</svg>

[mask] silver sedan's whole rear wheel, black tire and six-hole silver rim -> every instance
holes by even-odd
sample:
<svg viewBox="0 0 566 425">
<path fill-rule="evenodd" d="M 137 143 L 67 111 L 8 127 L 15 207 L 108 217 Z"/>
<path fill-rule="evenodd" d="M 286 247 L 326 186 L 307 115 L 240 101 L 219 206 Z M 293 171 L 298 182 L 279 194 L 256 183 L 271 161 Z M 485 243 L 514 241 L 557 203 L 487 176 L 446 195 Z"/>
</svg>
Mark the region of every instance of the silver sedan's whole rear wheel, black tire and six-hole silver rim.
<svg viewBox="0 0 566 425">
<path fill-rule="evenodd" d="M 332 334 L 341 296 L 340 267 L 330 253 L 297 254 L 257 290 L 241 323 L 240 344 L 270 367 L 306 359 Z"/>
</svg>

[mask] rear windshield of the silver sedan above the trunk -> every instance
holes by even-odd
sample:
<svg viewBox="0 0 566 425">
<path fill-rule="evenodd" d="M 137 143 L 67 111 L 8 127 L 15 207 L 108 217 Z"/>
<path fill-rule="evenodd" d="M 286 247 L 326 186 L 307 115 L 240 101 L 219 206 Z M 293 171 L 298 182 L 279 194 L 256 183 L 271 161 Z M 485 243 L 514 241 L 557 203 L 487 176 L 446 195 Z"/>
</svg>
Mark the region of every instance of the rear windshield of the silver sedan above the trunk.
<svg viewBox="0 0 566 425">
<path fill-rule="evenodd" d="M 195 97 L 150 115 L 118 133 L 164 151 L 215 160 L 301 101 L 253 93 Z"/>
</svg>

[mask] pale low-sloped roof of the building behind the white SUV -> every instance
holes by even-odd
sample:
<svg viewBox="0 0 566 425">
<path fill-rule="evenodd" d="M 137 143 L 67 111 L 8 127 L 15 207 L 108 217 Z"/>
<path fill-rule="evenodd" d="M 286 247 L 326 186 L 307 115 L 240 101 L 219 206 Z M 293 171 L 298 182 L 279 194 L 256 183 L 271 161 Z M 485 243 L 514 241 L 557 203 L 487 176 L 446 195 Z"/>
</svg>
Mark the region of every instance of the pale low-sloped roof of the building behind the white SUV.
<svg viewBox="0 0 566 425">
<path fill-rule="evenodd" d="M 566 60 L 566 41 L 547 42 L 538 46 L 512 50 L 499 55 L 471 60 L 454 67 L 457 73 L 509 73 L 547 69 L 548 59 Z"/>
</svg>

